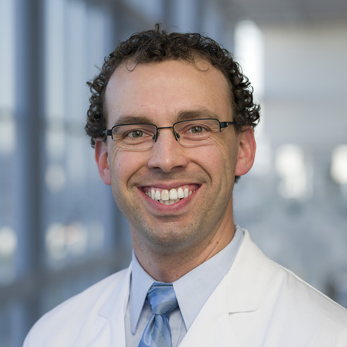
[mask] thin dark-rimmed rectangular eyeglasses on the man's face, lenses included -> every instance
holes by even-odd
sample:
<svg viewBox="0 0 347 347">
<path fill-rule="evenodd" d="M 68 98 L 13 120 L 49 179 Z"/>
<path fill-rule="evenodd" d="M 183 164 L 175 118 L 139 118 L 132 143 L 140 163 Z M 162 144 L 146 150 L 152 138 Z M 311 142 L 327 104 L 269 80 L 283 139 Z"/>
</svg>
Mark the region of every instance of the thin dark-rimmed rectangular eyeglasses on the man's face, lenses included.
<svg viewBox="0 0 347 347">
<path fill-rule="evenodd" d="M 235 124 L 235 121 L 219 121 L 214 118 L 178 121 L 173 126 L 158 128 L 154 124 L 119 124 L 104 130 L 120 149 L 143 151 L 151 149 L 158 139 L 158 130 L 172 129 L 178 143 L 184 147 L 203 146 L 216 141 L 221 129 Z"/>
</svg>

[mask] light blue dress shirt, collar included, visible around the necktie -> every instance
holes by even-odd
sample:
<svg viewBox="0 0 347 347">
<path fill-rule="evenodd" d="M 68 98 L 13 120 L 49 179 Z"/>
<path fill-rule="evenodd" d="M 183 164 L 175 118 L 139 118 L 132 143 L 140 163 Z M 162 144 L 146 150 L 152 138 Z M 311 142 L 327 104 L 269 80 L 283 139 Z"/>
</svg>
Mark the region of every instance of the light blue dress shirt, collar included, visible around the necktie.
<svg viewBox="0 0 347 347">
<path fill-rule="evenodd" d="M 173 283 L 179 306 L 169 317 L 173 347 L 179 346 L 198 312 L 228 273 L 243 238 L 244 233 L 237 226 L 228 246 Z M 144 271 L 133 252 L 130 295 L 125 317 L 127 347 L 139 345 L 142 332 L 151 318 L 152 310 L 146 296 L 153 282 L 156 281 Z"/>
</svg>

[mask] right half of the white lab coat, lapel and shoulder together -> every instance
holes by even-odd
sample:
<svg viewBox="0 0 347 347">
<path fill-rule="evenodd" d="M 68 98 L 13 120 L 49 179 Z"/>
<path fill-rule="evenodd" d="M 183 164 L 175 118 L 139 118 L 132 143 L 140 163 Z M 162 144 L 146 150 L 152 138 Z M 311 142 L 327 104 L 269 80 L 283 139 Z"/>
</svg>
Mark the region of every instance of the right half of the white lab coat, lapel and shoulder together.
<svg viewBox="0 0 347 347">
<path fill-rule="evenodd" d="M 182 347 L 347 347 L 347 310 L 266 257 L 244 230 Z"/>
</svg>

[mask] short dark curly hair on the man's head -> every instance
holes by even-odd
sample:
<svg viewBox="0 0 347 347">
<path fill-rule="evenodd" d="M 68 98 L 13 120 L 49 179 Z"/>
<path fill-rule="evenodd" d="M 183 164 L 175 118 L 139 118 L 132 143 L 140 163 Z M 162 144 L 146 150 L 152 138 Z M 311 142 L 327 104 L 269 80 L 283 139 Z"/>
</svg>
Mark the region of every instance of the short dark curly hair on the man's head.
<svg viewBox="0 0 347 347">
<path fill-rule="evenodd" d="M 156 24 L 153 30 L 136 33 L 128 40 L 120 42 L 115 51 L 105 58 L 99 75 L 92 82 L 87 82 L 92 96 L 85 130 L 91 137 L 92 146 L 94 147 L 96 139 L 103 136 L 106 127 L 103 110 L 105 89 L 119 65 L 128 60 L 135 64 L 144 64 L 164 60 L 195 62 L 198 58 L 208 60 L 226 76 L 236 130 L 242 131 L 244 126 L 254 128 L 260 119 L 260 105 L 253 102 L 253 87 L 232 55 L 210 37 L 199 33 L 167 33 L 160 28 L 160 24 Z"/>
</svg>

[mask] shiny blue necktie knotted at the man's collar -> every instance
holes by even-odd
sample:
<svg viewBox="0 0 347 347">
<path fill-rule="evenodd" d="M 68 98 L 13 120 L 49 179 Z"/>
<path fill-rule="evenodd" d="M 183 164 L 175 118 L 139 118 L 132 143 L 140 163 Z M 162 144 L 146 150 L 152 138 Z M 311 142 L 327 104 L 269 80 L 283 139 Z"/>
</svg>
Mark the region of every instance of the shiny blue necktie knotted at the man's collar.
<svg viewBox="0 0 347 347">
<path fill-rule="evenodd" d="M 155 282 L 147 294 L 152 316 L 144 329 L 139 347 L 171 347 L 169 314 L 178 307 L 174 287 Z"/>
</svg>

